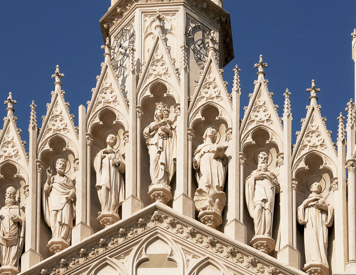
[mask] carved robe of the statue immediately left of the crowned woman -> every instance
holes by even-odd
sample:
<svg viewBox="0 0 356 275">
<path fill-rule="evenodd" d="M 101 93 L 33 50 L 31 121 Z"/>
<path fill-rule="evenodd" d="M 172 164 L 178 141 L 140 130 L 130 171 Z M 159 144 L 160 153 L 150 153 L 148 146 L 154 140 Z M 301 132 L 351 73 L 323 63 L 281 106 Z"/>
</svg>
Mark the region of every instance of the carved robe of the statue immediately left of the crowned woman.
<svg viewBox="0 0 356 275">
<path fill-rule="evenodd" d="M 122 175 L 125 173 L 125 161 L 119 151 L 115 153 L 113 150 L 112 153 L 107 154 L 104 153 L 105 150 L 108 150 L 108 148 L 100 150 L 94 158 L 95 187 L 98 190 L 101 211 L 114 211 L 117 213 L 120 204 L 125 199 L 124 177 Z M 121 161 L 119 166 L 113 166 L 114 159 Z M 109 198 L 103 198 L 105 194 L 102 192 L 102 186 L 106 186 L 109 190 Z"/>
</svg>

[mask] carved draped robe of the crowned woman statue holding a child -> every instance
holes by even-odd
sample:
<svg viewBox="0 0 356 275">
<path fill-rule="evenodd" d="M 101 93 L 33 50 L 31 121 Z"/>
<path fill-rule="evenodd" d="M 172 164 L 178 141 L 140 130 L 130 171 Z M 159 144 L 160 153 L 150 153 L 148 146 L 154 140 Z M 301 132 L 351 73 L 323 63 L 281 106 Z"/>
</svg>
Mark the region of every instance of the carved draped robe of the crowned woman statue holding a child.
<svg viewBox="0 0 356 275">
<path fill-rule="evenodd" d="M 176 132 L 172 125 L 167 123 L 170 133 L 165 133 L 159 127 L 152 130 L 157 121 L 150 123 L 144 129 L 144 137 L 150 155 L 150 176 L 152 184 L 169 185 L 176 171 Z"/>
</svg>

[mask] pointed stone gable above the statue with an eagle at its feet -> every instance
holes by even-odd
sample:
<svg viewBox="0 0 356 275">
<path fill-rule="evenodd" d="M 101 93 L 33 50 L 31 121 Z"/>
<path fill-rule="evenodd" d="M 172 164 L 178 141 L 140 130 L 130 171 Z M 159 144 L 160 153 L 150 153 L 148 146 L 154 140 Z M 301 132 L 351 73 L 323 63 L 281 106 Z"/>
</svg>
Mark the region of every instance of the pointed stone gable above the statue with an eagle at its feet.
<svg viewBox="0 0 356 275">
<path fill-rule="evenodd" d="M 209 53 L 197 89 L 189 105 L 189 127 L 196 120 L 203 118 L 202 110 L 209 104 L 218 109 L 219 114 L 216 119 L 223 119 L 228 124 L 228 127 L 232 127 L 230 116 L 232 112 L 231 100 L 213 52 Z"/>
</svg>

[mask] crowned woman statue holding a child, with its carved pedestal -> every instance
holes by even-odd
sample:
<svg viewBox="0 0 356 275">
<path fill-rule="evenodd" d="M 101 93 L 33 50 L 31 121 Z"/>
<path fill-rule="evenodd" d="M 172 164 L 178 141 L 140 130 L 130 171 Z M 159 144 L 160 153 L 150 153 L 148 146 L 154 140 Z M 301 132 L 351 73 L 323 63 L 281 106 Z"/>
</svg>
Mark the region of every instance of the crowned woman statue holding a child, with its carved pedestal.
<svg viewBox="0 0 356 275">
<path fill-rule="evenodd" d="M 152 181 L 148 194 L 154 201 L 163 203 L 172 200 L 169 184 L 176 171 L 176 132 L 169 113 L 165 103 L 156 103 L 154 121 L 144 129 Z"/>
</svg>

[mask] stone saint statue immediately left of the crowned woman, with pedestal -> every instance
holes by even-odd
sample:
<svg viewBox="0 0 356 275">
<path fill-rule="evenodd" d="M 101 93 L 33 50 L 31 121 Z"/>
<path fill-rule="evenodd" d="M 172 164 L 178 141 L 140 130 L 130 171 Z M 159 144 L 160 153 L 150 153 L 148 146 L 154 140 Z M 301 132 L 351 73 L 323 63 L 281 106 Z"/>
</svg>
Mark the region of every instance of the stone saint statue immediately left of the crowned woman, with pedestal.
<svg viewBox="0 0 356 275">
<path fill-rule="evenodd" d="M 107 227 L 120 220 L 118 210 L 125 199 L 124 179 L 125 161 L 114 146 L 117 138 L 109 134 L 106 138 L 106 148 L 100 150 L 94 158 L 96 172 L 96 189 L 101 204 L 98 222 Z"/>
</svg>

